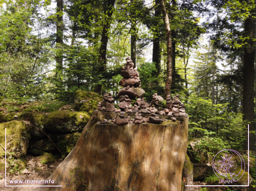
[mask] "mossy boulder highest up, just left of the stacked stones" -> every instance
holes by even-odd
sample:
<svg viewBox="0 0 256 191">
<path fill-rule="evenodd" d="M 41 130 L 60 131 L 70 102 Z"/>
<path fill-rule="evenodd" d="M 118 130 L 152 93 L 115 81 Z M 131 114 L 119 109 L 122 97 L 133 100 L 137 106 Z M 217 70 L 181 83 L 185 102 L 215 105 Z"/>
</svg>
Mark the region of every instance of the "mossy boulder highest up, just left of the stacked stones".
<svg viewBox="0 0 256 191">
<path fill-rule="evenodd" d="M 91 91 L 77 90 L 75 95 L 76 111 L 86 111 L 92 115 L 93 111 L 97 109 L 98 102 L 102 101 L 102 96 Z"/>
</svg>

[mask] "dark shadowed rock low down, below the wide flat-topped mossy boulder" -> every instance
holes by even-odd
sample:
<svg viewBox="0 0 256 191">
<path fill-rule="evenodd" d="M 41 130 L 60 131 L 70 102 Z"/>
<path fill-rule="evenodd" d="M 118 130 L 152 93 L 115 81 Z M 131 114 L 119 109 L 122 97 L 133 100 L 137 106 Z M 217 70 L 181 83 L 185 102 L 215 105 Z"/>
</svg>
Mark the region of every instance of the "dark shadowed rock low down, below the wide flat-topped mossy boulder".
<svg viewBox="0 0 256 191">
<path fill-rule="evenodd" d="M 51 142 L 51 140 L 47 138 L 42 140 L 31 141 L 27 152 L 29 154 L 39 156 L 45 153 L 54 153 L 55 150 L 55 145 Z"/>
</svg>

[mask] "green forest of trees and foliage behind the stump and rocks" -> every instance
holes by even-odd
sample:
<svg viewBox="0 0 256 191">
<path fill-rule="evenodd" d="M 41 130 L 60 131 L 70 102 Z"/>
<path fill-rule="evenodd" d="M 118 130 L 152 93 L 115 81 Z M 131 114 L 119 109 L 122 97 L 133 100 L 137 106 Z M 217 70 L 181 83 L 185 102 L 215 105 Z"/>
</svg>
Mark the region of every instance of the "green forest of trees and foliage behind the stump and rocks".
<svg viewBox="0 0 256 191">
<path fill-rule="evenodd" d="M 180 95 L 202 150 L 247 150 L 249 123 L 255 151 L 254 0 L 0 0 L 0 100 L 10 112 L 72 103 L 77 90 L 117 99 L 127 56 L 148 102 L 168 83 Z"/>
</svg>

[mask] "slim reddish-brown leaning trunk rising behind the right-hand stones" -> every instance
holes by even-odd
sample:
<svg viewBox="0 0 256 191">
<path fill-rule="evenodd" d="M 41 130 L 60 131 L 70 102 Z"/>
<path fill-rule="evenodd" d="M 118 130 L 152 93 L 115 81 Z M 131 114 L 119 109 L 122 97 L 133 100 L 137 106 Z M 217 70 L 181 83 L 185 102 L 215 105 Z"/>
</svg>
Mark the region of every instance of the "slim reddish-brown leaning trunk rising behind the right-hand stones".
<svg viewBox="0 0 256 191">
<path fill-rule="evenodd" d="M 164 90 L 164 97 L 167 99 L 168 95 L 170 95 L 171 90 L 171 81 L 172 81 L 172 57 L 173 51 L 171 47 L 171 29 L 170 29 L 170 22 L 167 10 L 165 8 L 164 0 L 160 0 L 160 6 L 162 9 L 162 14 L 164 18 L 164 25 L 165 25 L 165 33 L 166 33 L 166 43 L 167 43 L 167 71 L 166 71 L 166 81 L 165 81 L 165 90 Z"/>
</svg>

